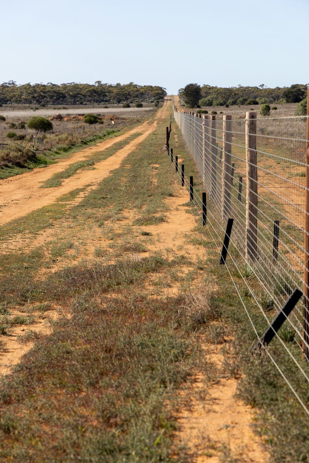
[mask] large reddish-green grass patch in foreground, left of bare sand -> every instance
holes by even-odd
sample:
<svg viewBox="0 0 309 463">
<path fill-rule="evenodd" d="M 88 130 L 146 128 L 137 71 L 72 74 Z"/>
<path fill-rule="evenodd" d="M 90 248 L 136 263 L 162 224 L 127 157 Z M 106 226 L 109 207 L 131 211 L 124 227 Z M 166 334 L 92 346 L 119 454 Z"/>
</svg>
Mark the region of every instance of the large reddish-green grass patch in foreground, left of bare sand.
<svg viewBox="0 0 309 463">
<path fill-rule="evenodd" d="M 81 294 L 71 318 L 1 381 L 2 458 L 180 461 L 171 447 L 176 391 L 189 387 L 197 364 L 207 365 L 200 346 L 175 330 L 182 301 L 167 308 L 139 299 L 109 300 L 102 310 Z"/>
</svg>

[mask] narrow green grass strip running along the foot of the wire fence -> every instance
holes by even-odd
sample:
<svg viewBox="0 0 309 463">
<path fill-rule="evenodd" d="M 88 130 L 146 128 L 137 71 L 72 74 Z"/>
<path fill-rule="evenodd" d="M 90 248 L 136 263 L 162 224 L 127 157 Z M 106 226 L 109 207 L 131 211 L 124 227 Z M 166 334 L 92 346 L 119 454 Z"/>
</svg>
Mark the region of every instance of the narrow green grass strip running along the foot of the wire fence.
<svg viewBox="0 0 309 463">
<path fill-rule="evenodd" d="M 176 146 L 177 150 L 174 148 Z M 174 152 L 179 153 L 178 156 L 183 158 L 182 163 L 185 164 L 186 176 L 194 176 L 195 192 L 202 196 L 202 180 L 194 162 L 188 155 L 183 137 L 176 124 L 173 124 L 172 127 L 170 147 L 174 148 Z M 167 155 L 166 158 L 168 163 L 169 158 Z M 192 212 L 195 214 L 195 207 L 191 206 Z M 197 231 L 202 238 L 205 238 L 200 215 L 197 216 L 196 222 Z M 304 412 L 294 394 L 292 394 L 284 378 L 274 369 L 269 357 L 252 355 L 252 349 L 257 342 L 257 338 L 235 291 L 226 266 L 219 265 L 220 253 L 217 251 L 216 245 L 209 234 L 206 240 L 200 241 L 200 244 L 204 246 L 208 256 L 208 284 L 211 285 L 215 281 L 219 288 L 211 300 L 212 306 L 217 307 L 222 314 L 221 323 L 217 327 L 219 331 L 221 330 L 223 336 L 229 337 L 224 350 L 226 374 L 238 379 L 240 398 L 248 405 L 257 408 L 258 416 L 254 427 L 259 434 L 265 436 L 272 460 L 277 463 L 309 461 L 308 415 Z M 240 288 L 241 297 L 246 303 L 254 325 L 259 335 L 262 336 L 265 331 L 265 319 L 256 307 L 255 301 L 244 285 L 238 271 L 230 267 L 230 272 L 233 280 Z M 250 279 L 248 269 L 244 267 L 242 272 L 245 278 Z M 263 294 L 260 297 L 262 300 Z M 293 332 L 283 326 L 279 330 L 279 335 L 285 343 L 290 344 L 294 356 L 299 363 L 302 363 L 303 369 L 309 375 L 309 365 L 301 357 L 301 353 L 294 341 Z M 306 403 L 308 401 L 306 379 L 298 369 L 294 368 L 293 360 L 282 349 L 279 340 L 273 339 L 268 349 L 271 356 L 280 364 L 284 374 L 289 375 L 293 372 L 297 391 L 300 391 L 301 397 Z M 282 446 L 282 442 L 285 443 L 284 446 Z"/>
</svg>

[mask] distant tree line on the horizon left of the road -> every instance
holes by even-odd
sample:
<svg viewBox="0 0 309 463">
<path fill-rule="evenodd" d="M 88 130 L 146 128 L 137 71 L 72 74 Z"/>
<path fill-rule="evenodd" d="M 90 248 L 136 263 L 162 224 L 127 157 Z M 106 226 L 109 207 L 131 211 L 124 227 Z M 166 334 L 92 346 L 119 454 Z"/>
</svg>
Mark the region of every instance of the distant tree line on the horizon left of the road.
<svg viewBox="0 0 309 463">
<path fill-rule="evenodd" d="M 0 104 L 28 103 L 34 105 L 80 105 L 84 103 L 124 103 L 162 100 L 165 88 L 152 85 L 137 85 L 133 82 L 121 85 L 96 81 L 92 84 L 76 82 L 60 85 L 47 84 L 17 85 L 15 81 L 0 84 Z"/>
</svg>

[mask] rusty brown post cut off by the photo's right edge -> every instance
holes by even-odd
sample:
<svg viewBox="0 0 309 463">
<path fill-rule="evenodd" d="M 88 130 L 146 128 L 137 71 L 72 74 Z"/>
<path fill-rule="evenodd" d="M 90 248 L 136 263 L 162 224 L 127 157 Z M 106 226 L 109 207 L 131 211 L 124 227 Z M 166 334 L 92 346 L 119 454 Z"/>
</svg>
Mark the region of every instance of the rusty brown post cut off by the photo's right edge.
<svg viewBox="0 0 309 463">
<path fill-rule="evenodd" d="M 304 268 L 303 268 L 303 356 L 309 360 L 309 87 L 307 88 L 306 121 L 306 190 L 304 223 Z"/>
</svg>

